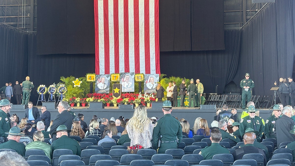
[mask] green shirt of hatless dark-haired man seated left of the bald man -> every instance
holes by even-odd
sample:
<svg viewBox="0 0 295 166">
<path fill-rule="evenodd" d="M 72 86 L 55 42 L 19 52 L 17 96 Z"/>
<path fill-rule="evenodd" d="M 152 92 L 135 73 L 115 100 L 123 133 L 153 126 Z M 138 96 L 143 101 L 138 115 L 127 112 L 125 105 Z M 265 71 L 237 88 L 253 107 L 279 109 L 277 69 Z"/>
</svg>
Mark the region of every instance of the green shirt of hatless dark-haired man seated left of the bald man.
<svg viewBox="0 0 295 166">
<path fill-rule="evenodd" d="M 204 147 L 199 154 L 204 157 L 204 160 L 212 159 L 214 154 L 230 154 L 230 151 L 219 145 L 219 143 L 212 142 L 211 146 Z"/>
</svg>

